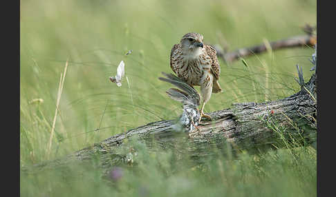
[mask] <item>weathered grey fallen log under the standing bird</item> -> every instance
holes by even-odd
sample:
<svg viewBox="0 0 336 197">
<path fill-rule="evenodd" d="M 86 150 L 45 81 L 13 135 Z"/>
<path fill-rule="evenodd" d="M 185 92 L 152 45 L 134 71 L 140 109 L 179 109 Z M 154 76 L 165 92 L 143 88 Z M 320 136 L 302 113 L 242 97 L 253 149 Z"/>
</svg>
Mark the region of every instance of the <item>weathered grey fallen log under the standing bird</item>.
<svg viewBox="0 0 336 197">
<path fill-rule="evenodd" d="M 136 162 L 139 145 L 153 152 L 172 148 L 176 155 L 182 158 L 190 156 L 197 161 L 213 155 L 214 147 L 255 153 L 286 147 L 292 142 L 296 146 L 314 144 L 317 131 L 316 77 L 316 73 L 312 74 L 308 83 L 301 84 L 297 94 L 287 98 L 265 103 L 234 103 L 230 109 L 208 113 L 212 121 L 202 120 L 198 129 L 189 134 L 171 129 L 176 122 L 173 120 L 148 123 L 64 158 L 25 167 L 23 171 L 36 172 L 71 163 L 94 163 L 108 170 L 116 165 Z M 134 137 L 136 139 L 132 139 Z"/>
</svg>

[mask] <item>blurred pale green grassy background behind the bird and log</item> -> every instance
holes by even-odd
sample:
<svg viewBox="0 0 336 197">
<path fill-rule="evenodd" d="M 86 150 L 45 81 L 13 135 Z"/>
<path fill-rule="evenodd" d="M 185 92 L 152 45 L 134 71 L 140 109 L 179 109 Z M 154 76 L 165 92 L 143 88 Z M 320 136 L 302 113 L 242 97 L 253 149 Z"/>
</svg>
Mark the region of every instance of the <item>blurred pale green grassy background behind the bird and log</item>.
<svg viewBox="0 0 336 197">
<path fill-rule="evenodd" d="M 109 136 L 181 113 L 158 80 L 171 72 L 171 47 L 187 32 L 229 51 L 304 34 L 316 1 L 20 1 L 20 165 L 59 158 Z M 127 56 L 127 51 L 133 52 Z M 221 64 L 224 92 L 205 112 L 263 102 L 299 90 L 296 64 L 311 76 L 312 48 L 270 51 Z M 66 74 L 53 128 L 61 74 Z M 109 81 L 120 61 L 122 86 Z M 39 99 L 39 100 L 37 100 Z"/>
</svg>

